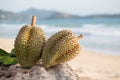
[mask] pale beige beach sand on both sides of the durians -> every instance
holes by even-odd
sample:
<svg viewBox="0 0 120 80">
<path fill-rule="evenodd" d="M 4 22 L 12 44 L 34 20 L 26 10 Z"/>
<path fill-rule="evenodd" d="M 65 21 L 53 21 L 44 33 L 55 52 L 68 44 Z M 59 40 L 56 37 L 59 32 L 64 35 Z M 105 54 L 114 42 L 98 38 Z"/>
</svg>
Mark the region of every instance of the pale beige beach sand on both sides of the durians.
<svg viewBox="0 0 120 80">
<path fill-rule="evenodd" d="M 14 39 L 0 38 L 0 48 L 10 52 L 13 46 Z M 68 63 L 82 80 L 120 80 L 120 56 L 82 48 L 80 54 Z"/>
</svg>

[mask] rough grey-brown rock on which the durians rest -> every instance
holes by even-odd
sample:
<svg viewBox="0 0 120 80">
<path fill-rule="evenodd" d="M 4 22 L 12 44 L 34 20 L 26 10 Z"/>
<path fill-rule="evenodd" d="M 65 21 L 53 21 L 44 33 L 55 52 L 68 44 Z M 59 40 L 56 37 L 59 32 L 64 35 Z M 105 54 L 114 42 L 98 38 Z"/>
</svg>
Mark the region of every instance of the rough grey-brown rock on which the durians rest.
<svg viewBox="0 0 120 80">
<path fill-rule="evenodd" d="M 79 76 L 69 67 L 62 64 L 45 69 L 38 64 L 30 69 L 12 65 L 3 69 L 0 67 L 0 80 L 79 80 Z"/>
</svg>

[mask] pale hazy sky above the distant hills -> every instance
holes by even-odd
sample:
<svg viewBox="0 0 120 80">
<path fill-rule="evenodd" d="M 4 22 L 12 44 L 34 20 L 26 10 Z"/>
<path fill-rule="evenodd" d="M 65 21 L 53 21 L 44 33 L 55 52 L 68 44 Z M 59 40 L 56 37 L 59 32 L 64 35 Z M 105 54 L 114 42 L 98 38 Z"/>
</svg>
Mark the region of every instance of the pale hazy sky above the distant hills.
<svg viewBox="0 0 120 80">
<path fill-rule="evenodd" d="M 77 15 L 118 14 L 120 0 L 0 0 L 0 9 L 20 12 L 29 8 Z"/>
</svg>

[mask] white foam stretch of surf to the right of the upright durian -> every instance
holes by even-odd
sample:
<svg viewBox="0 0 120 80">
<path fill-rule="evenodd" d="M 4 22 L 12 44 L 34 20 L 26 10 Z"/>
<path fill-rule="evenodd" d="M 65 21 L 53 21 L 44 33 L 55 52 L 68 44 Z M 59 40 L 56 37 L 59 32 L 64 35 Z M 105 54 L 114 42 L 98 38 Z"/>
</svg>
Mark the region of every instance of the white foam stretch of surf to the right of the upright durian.
<svg viewBox="0 0 120 80">
<path fill-rule="evenodd" d="M 119 27 L 109 27 L 104 24 L 85 24 L 82 27 L 59 27 L 59 26 L 49 26 L 49 25 L 40 25 L 46 32 L 57 32 L 63 29 L 69 29 L 76 33 L 85 33 L 89 35 L 98 35 L 98 36 L 116 36 L 120 37 L 120 28 Z"/>
</svg>

